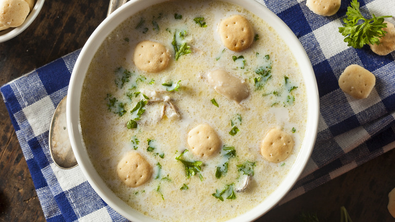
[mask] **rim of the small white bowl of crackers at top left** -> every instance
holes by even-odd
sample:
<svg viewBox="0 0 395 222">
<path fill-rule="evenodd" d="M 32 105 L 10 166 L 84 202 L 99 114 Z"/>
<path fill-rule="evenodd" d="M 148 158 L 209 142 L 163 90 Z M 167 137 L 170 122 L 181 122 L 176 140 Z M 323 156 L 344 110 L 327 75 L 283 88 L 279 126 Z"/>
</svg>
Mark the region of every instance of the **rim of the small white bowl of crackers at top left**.
<svg viewBox="0 0 395 222">
<path fill-rule="evenodd" d="M 36 0 L 33 9 L 27 15 L 26 20 L 22 23 L 22 25 L 15 28 L 8 28 L 6 30 L 0 31 L 0 43 L 6 42 L 22 31 L 24 31 L 29 25 L 33 22 L 33 20 L 37 17 L 38 13 L 41 11 L 44 5 L 44 0 Z"/>
</svg>

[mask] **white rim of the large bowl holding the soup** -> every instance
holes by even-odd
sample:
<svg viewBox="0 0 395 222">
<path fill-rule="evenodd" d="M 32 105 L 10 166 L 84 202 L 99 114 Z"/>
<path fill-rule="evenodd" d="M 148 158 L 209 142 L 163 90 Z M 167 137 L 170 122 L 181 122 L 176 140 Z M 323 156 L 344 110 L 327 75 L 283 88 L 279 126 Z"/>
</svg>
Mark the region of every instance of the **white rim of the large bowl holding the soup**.
<svg viewBox="0 0 395 222">
<path fill-rule="evenodd" d="M 113 30 L 114 27 L 121 24 L 125 19 L 138 11 L 147 8 L 153 4 L 164 2 L 164 0 L 132 0 L 126 5 L 117 9 L 108 18 L 106 18 L 99 27 L 93 32 L 92 36 L 87 41 L 78 57 L 70 80 L 67 97 L 67 126 L 68 133 L 71 140 L 71 146 L 78 164 L 81 167 L 84 175 L 87 177 L 93 189 L 99 196 L 115 211 L 119 212 L 126 218 L 138 221 L 156 221 L 152 218 L 144 216 L 143 214 L 132 209 L 106 186 L 99 174 L 93 167 L 88 153 L 83 145 L 83 138 L 79 130 L 80 117 L 80 97 L 84 78 L 91 60 L 105 40 L 106 36 Z M 295 164 L 292 166 L 290 172 L 285 179 L 280 183 L 280 186 L 271 193 L 263 202 L 254 207 L 252 210 L 244 213 L 229 221 L 251 221 L 269 211 L 275 204 L 277 204 L 292 188 L 299 175 L 302 173 L 314 146 L 315 137 L 317 136 L 318 119 L 319 119 L 319 96 L 317 82 L 315 81 L 314 72 L 311 63 L 307 57 L 306 52 L 299 43 L 296 36 L 291 29 L 275 14 L 267 8 L 254 0 L 226 0 L 236 5 L 242 5 L 247 10 L 255 15 L 258 15 L 265 20 L 268 25 L 273 27 L 281 36 L 285 43 L 289 46 L 294 54 L 301 73 L 303 75 L 304 83 L 307 93 L 307 127 L 302 147 Z"/>
</svg>

